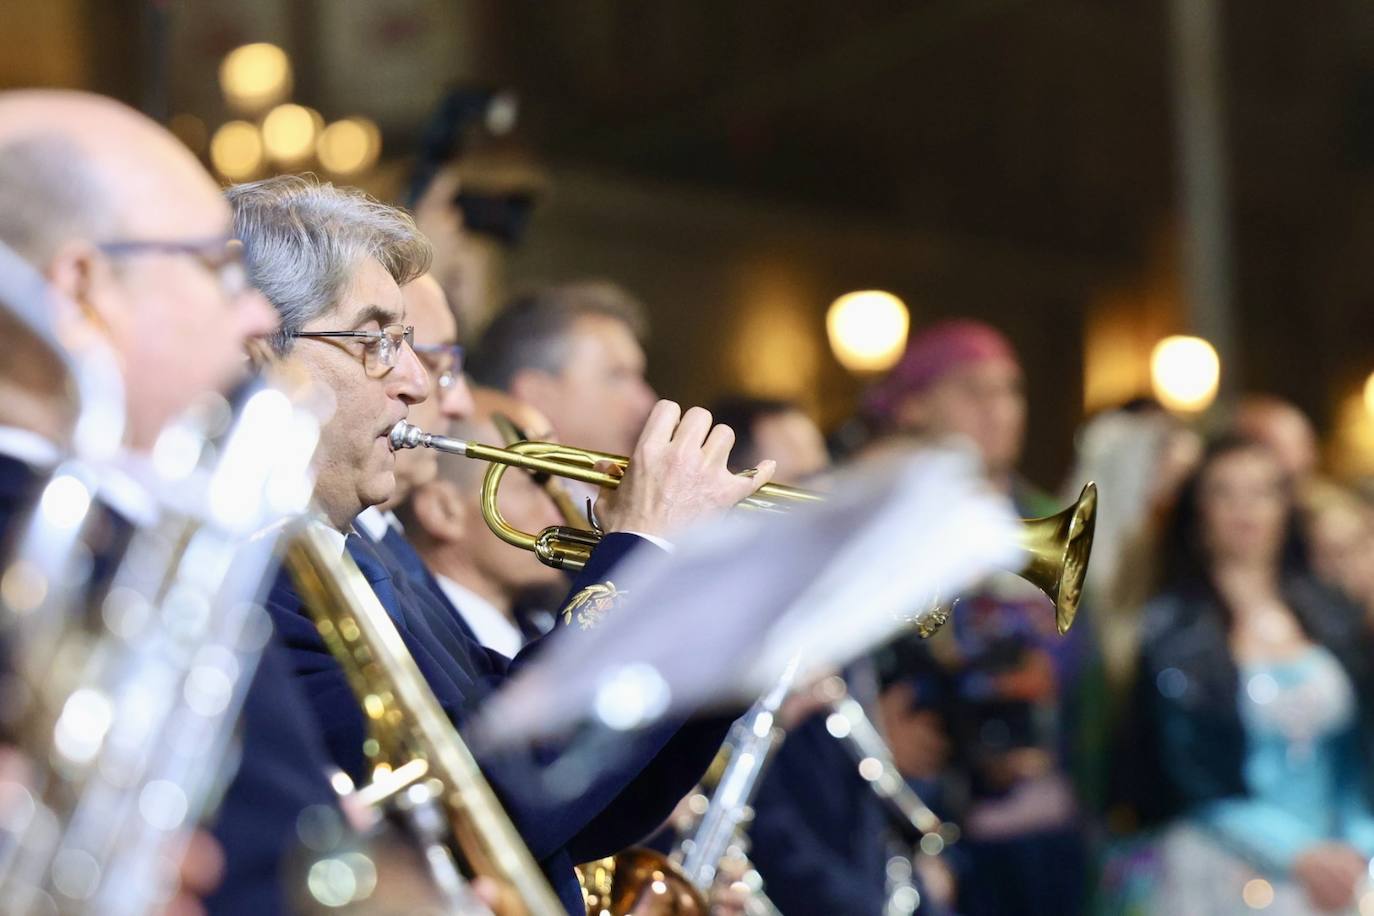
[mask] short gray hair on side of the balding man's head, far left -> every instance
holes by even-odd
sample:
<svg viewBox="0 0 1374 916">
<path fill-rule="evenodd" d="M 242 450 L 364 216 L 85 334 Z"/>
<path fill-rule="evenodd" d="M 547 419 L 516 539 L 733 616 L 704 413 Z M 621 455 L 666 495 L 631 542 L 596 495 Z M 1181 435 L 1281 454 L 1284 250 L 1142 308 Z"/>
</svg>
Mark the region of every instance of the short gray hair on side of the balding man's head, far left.
<svg viewBox="0 0 1374 916">
<path fill-rule="evenodd" d="M 0 144 L 0 242 L 44 266 L 69 239 L 109 242 L 115 205 L 96 163 L 71 140 L 29 135 Z"/>
</svg>

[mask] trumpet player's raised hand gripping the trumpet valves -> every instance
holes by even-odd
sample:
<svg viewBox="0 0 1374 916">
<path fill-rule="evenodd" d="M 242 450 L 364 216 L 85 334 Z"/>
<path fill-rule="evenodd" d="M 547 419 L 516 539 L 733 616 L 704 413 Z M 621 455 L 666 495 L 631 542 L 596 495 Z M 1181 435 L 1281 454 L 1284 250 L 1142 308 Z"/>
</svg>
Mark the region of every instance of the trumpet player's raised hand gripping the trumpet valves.
<svg viewBox="0 0 1374 916">
<path fill-rule="evenodd" d="M 760 461 L 754 477 L 731 474 L 725 461 L 734 444 L 734 431 L 713 427 L 702 408 L 683 413 L 672 401 L 660 401 L 620 488 L 602 490 L 596 501 L 602 527 L 664 537 L 750 496 L 772 478 L 775 464 Z"/>
</svg>

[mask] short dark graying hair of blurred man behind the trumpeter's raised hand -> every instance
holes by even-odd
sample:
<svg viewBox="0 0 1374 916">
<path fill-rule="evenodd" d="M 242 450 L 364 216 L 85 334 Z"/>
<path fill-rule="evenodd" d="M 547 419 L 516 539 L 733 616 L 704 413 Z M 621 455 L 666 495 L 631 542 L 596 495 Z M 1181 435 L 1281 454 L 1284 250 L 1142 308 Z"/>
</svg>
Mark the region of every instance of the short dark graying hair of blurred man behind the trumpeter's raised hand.
<svg viewBox="0 0 1374 916">
<path fill-rule="evenodd" d="M 643 342 L 649 335 L 644 306 L 606 280 L 548 286 L 515 297 L 496 313 L 464 364 L 478 385 L 508 390 L 522 369 L 558 375 L 567 365 L 569 332 L 584 316 L 621 321 Z"/>
</svg>

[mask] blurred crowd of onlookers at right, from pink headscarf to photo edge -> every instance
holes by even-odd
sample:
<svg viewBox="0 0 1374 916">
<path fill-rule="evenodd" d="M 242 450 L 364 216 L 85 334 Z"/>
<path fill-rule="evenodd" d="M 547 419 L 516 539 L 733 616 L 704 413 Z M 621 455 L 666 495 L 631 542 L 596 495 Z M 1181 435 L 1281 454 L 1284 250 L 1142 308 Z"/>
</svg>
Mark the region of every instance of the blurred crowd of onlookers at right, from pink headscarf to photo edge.
<svg viewBox="0 0 1374 916">
<path fill-rule="evenodd" d="M 1024 516 L 1101 494 L 1066 637 L 1009 577 L 875 658 L 896 759 L 962 828 L 927 902 L 1374 912 L 1369 492 L 1323 475 L 1297 407 L 1246 394 L 1206 423 L 1146 398 L 1092 416 L 1055 500 L 1015 470 L 1026 397 L 1011 345 L 952 321 L 866 404 L 860 450 L 963 441 Z"/>
</svg>

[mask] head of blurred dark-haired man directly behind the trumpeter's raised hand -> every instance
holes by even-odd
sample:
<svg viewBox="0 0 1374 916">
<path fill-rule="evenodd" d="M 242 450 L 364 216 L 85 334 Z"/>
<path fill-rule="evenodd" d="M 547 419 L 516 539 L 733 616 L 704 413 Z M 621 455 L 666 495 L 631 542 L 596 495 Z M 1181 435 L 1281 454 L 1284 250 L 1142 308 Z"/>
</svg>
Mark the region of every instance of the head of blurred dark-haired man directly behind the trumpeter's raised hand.
<svg viewBox="0 0 1374 916">
<path fill-rule="evenodd" d="M 646 332 L 643 306 L 611 283 L 551 286 L 497 313 L 469 369 L 547 416 L 561 441 L 628 455 L 654 405 Z"/>
</svg>

